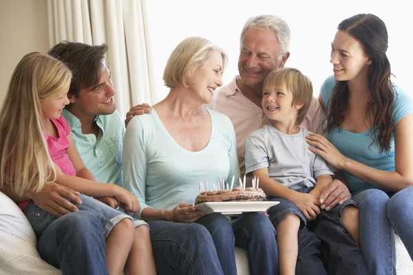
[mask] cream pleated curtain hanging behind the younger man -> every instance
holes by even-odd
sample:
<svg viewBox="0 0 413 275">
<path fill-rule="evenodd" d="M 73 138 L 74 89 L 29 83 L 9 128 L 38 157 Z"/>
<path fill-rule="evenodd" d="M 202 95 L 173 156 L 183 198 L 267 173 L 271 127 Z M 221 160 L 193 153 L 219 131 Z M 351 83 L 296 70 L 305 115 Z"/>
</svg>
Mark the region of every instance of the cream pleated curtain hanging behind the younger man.
<svg viewBox="0 0 413 275">
<path fill-rule="evenodd" d="M 50 47 L 60 41 L 107 43 L 107 65 L 123 117 L 131 106 L 151 103 L 141 0 L 47 0 Z"/>
</svg>

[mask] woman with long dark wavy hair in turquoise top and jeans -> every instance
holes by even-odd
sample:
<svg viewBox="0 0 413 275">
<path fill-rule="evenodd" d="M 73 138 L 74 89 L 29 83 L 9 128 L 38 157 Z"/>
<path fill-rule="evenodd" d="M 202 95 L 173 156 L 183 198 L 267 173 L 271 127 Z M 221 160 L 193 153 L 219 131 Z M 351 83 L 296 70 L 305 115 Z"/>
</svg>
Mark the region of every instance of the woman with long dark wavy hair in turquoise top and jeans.
<svg viewBox="0 0 413 275">
<path fill-rule="evenodd" d="M 396 274 L 394 230 L 413 259 L 413 103 L 390 80 L 388 32 L 373 14 L 345 19 L 331 43 L 334 76 L 321 86 L 327 138 L 310 148 L 338 168 L 359 204 L 370 274 Z M 326 111 L 327 111 L 326 109 Z"/>
</svg>

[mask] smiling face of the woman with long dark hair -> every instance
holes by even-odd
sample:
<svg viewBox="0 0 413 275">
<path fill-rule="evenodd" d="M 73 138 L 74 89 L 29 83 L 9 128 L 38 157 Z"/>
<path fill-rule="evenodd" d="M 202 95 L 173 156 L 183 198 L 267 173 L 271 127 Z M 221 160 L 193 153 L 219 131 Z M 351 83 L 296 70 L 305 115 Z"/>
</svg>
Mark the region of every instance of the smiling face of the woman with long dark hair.
<svg viewBox="0 0 413 275">
<path fill-rule="evenodd" d="M 345 81 L 367 77 L 371 61 L 357 39 L 339 30 L 331 43 L 330 63 L 333 65 L 335 79 Z"/>
</svg>

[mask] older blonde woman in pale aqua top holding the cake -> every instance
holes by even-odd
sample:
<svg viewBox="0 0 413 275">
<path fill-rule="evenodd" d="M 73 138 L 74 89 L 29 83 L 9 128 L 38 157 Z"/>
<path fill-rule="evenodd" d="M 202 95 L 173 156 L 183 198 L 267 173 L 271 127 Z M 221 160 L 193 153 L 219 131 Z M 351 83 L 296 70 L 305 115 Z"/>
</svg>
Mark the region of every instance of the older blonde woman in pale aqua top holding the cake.
<svg viewBox="0 0 413 275">
<path fill-rule="evenodd" d="M 222 267 L 213 274 L 237 274 L 235 245 L 247 249 L 251 274 L 275 274 L 275 230 L 265 214 L 229 221 L 220 213 L 205 215 L 192 204 L 199 181 L 229 181 L 240 175 L 231 121 L 202 107 L 222 85 L 225 65 L 226 54 L 207 39 L 190 37 L 173 50 L 163 75 L 171 89 L 168 96 L 127 126 L 123 182 L 138 197 L 139 218 L 149 226 L 151 221 L 165 221 L 165 232 L 176 223 L 207 228 Z M 151 230 L 154 250 L 157 234 L 162 233 Z M 191 238 L 184 230 L 182 234 Z M 198 249 L 202 257 L 205 248 Z"/>
</svg>

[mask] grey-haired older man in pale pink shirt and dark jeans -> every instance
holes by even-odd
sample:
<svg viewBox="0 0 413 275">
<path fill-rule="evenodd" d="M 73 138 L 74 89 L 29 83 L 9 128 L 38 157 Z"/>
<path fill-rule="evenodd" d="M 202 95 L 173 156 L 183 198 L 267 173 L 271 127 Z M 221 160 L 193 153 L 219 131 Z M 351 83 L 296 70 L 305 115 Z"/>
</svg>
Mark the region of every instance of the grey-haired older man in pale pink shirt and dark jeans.
<svg viewBox="0 0 413 275">
<path fill-rule="evenodd" d="M 262 85 L 266 75 L 273 69 L 284 67 L 290 56 L 290 28 L 284 20 L 273 15 L 253 17 L 246 21 L 240 43 L 240 75 L 215 92 L 209 107 L 224 113 L 233 122 L 240 170 L 244 173 L 245 138 L 270 123 L 262 110 Z M 147 104 L 132 107 L 125 123 L 133 115 L 150 110 Z M 319 132 L 322 120 L 324 113 L 317 98 L 313 98 L 301 127 Z M 319 199 L 321 208 L 330 210 L 350 197 L 348 188 L 335 179 L 324 188 Z M 320 221 L 311 229 L 313 232 L 308 228 L 299 231 L 297 274 L 322 274 L 324 270 L 328 274 L 368 274 L 361 250 L 347 232 L 330 221 Z"/>
</svg>

